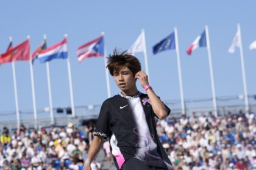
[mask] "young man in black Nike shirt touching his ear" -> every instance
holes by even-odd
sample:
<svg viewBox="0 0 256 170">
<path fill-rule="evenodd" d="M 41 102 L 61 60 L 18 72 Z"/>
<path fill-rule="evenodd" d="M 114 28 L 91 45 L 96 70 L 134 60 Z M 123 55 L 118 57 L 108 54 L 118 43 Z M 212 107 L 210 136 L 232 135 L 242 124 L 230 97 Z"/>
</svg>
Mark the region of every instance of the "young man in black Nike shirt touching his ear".
<svg viewBox="0 0 256 170">
<path fill-rule="evenodd" d="M 115 50 L 108 57 L 107 68 L 121 93 L 108 98 L 101 106 L 84 169 L 91 169 L 91 160 L 107 138 L 117 169 L 173 169 L 155 125 L 155 117 L 166 118 L 170 109 L 149 86 L 140 61 L 129 53 Z M 137 79 L 146 94 L 138 91 Z"/>
</svg>

